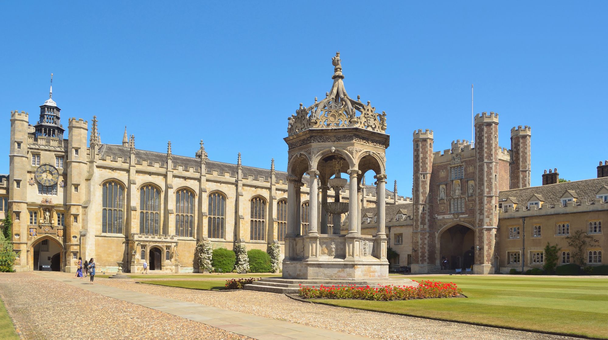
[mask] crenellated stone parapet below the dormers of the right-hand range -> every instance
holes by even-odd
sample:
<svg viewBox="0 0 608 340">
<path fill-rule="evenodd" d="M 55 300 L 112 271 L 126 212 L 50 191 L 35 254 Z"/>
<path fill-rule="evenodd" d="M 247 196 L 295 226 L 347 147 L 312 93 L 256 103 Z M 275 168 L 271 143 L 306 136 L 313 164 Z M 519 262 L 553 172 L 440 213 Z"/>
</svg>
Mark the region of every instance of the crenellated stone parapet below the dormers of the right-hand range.
<svg viewBox="0 0 608 340">
<path fill-rule="evenodd" d="M 551 204 L 545 203 L 536 207 L 535 205 L 528 208 L 527 204 L 519 204 L 517 207 L 508 207 L 506 210 L 500 209 L 500 218 L 519 218 L 537 215 L 557 215 L 561 213 L 577 213 L 589 212 L 595 210 L 608 209 L 608 202 L 604 202 L 601 198 L 579 199 L 577 201 L 569 201 L 562 206 L 561 203 Z"/>
</svg>

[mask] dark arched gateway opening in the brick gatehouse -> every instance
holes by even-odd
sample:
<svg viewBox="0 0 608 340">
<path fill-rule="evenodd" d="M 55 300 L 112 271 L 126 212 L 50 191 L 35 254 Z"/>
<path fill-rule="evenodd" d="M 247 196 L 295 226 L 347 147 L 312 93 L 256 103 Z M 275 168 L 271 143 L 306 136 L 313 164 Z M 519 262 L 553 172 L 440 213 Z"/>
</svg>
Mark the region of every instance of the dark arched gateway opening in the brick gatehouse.
<svg viewBox="0 0 608 340">
<path fill-rule="evenodd" d="M 448 269 L 471 268 L 475 263 L 475 231 L 468 226 L 456 224 L 441 233 L 441 261 L 447 258 Z"/>
</svg>

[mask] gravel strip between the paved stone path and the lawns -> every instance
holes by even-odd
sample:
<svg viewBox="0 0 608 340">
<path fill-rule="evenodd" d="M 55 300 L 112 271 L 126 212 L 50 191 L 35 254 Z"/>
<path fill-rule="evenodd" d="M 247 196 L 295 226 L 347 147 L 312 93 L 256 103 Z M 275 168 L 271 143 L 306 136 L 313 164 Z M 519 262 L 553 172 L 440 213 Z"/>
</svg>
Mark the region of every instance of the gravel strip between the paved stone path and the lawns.
<svg viewBox="0 0 608 340">
<path fill-rule="evenodd" d="M 258 291 L 187 290 L 133 283 L 135 281 L 133 279 L 100 279 L 98 283 L 377 339 L 575 339 L 350 308 L 305 304 L 289 299 L 282 294 Z"/>
</svg>

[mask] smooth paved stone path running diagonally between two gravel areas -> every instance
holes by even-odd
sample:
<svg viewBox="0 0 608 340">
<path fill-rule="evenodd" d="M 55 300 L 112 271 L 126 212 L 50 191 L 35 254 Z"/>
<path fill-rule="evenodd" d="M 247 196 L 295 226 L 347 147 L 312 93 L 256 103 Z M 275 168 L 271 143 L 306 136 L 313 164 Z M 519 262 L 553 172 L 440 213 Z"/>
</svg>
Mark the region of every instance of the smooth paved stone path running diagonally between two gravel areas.
<svg viewBox="0 0 608 340">
<path fill-rule="evenodd" d="M 210 307 L 185 302 L 183 300 L 171 299 L 169 297 L 155 296 L 137 291 L 123 290 L 112 286 L 100 284 L 83 284 L 85 279 L 74 279 L 73 277 L 58 277 L 54 272 L 36 272 L 39 276 L 47 279 L 61 280 L 68 285 L 76 286 L 83 290 L 91 291 L 103 296 L 142 305 L 153 310 L 173 314 L 184 319 L 200 322 L 221 330 L 230 331 L 239 335 L 260 340 L 291 340 L 291 339 L 318 339 L 318 340 L 364 340 L 362 336 L 341 333 L 339 331 L 323 328 L 310 327 L 292 322 L 270 319 L 268 317 L 255 316 L 241 313 L 239 311 L 226 310 L 224 308 Z M 86 279 L 88 280 L 88 278 Z"/>
</svg>

